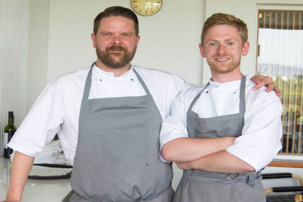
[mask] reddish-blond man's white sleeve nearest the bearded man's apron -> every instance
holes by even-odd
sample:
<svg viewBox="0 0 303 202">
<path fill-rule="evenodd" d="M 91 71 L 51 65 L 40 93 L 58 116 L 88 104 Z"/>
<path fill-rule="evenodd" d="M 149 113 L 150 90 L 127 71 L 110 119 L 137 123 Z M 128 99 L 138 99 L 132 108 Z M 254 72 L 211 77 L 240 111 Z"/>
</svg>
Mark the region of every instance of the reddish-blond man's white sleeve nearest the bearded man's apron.
<svg viewBox="0 0 303 202">
<path fill-rule="evenodd" d="M 182 93 L 177 96 L 175 99 L 171 115 L 166 117 L 163 121 L 160 131 L 160 159 L 164 162 L 164 158 L 161 155 L 161 148 L 167 142 L 179 138 L 179 137 L 188 137 L 187 132 L 187 123 L 186 123 L 186 112 L 187 108 L 184 103 L 185 99 L 182 96 Z"/>
</svg>

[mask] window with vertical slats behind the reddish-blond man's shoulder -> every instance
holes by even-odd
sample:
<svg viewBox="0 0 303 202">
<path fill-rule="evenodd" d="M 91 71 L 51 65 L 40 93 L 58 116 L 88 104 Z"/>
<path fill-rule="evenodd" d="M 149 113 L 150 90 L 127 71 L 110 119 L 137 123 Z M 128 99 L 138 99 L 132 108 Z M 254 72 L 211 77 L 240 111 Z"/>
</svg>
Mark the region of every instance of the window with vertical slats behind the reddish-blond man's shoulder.
<svg viewBox="0 0 303 202">
<path fill-rule="evenodd" d="M 258 11 L 257 74 L 281 90 L 283 149 L 303 154 L 303 12 Z"/>
</svg>

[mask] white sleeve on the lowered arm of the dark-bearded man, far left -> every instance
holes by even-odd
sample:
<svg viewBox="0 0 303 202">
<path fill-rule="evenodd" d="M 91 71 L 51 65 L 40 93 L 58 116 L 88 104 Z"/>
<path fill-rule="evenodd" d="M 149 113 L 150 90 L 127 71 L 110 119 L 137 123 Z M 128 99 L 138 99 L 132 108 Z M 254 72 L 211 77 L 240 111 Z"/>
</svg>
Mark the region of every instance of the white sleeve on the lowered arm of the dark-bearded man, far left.
<svg viewBox="0 0 303 202">
<path fill-rule="evenodd" d="M 18 127 L 8 146 L 36 157 L 59 131 L 64 120 L 64 103 L 58 84 L 48 84 Z"/>
</svg>

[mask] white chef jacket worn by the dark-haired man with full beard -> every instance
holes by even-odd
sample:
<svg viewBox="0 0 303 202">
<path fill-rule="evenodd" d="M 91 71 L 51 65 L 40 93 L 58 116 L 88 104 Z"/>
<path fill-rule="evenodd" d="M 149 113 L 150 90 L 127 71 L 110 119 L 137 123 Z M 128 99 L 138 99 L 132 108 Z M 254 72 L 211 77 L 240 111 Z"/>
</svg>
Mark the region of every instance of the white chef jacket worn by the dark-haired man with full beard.
<svg viewBox="0 0 303 202">
<path fill-rule="evenodd" d="M 142 77 L 162 120 L 170 114 L 181 90 L 191 87 L 183 78 L 158 70 L 131 66 L 119 77 L 94 66 L 89 99 L 146 95 L 133 68 Z M 73 165 L 84 85 L 90 66 L 56 78 L 35 101 L 8 146 L 28 156 L 37 156 L 57 133 L 62 149 Z M 119 114 L 117 114 L 119 116 Z"/>
</svg>

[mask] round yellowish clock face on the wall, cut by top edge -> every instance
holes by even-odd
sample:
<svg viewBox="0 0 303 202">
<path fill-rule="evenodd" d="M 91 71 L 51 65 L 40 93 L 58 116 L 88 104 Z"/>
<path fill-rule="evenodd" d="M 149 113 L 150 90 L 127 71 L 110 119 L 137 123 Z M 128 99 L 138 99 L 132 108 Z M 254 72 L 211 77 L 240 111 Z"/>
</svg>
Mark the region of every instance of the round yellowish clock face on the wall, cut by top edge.
<svg viewBox="0 0 303 202">
<path fill-rule="evenodd" d="M 160 10 L 162 0 L 131 0 L 131 6 L 138 14 L 149 16 Z"/>
</svg>

